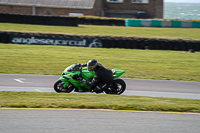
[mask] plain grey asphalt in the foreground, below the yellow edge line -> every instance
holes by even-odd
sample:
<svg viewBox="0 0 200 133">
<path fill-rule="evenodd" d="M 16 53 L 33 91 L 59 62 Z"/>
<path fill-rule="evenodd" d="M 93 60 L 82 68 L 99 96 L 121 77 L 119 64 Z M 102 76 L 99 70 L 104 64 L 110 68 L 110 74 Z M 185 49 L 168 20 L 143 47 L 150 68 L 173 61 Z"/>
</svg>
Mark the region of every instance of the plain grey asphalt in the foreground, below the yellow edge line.
<svg viewBox="0 0 200 133">
<path fill-rule="evenodd" d="M 0 133 L 199 133 L 199 114 L 0 109 Z"/>
</svg>

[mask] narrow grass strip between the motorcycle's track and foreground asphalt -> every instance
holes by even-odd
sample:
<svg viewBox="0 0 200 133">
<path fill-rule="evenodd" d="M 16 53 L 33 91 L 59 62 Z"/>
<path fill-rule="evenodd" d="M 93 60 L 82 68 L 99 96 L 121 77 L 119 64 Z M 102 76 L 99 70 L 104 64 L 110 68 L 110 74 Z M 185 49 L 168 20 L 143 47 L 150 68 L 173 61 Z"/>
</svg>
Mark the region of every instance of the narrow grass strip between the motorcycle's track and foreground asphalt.
<svg viewBox="0 0 200 133">
<path fill-rule="evenodd" d="M 81 108 L 200 113 L 200 100 L 139 96 L 0 92 L 1 107 Z"/>
</svg>

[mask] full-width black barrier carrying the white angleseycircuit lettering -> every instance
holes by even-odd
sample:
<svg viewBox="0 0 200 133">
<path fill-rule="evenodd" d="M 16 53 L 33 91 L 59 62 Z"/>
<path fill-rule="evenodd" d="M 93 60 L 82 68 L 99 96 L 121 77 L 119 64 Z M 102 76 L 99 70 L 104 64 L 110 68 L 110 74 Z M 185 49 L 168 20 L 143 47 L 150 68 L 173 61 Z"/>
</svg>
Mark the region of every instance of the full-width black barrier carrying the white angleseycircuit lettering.
<svg viewBox="0 0 200 133">
<path fill-rule="evenodd" d="M 126 49 L 200 51 L 200 41 L 168 40 L 134 37 L 78 36 L 63 34 L 40 34 L 20 32 L 0 32 L 1 43 L 62 45 L 79 47 L 103 47 Z"/>
</svg>

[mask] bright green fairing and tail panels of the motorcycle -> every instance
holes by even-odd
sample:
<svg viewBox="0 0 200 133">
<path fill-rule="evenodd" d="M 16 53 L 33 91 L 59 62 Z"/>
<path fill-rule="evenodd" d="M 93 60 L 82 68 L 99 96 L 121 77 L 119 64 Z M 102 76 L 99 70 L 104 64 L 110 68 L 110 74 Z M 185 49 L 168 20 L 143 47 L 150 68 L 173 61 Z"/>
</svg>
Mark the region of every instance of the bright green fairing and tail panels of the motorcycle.
<svg viewBox="0 0 200 133">
<path fill-rule="evenodd" d="M 121 69 L 112 69 L 113 71 L 113 79 L 121 76 L 125 71 Z M 63 73 L 62 77 L 60 77 L 60 80 L 64 83 L 63 87 L 67 87 L 69 83 L 71 83 L 75 88 L 78 88 L 78 90 L 81 92 L 83 91 L 82 88 L 86 88 L 88 91 L 91 90 L 91 87 L 88 86 L 85 83 L 80 82 L 79 80 L 73 78 L 75 76 L 81 75 L 84 79 L 88 81 L 92 81 L 93 76 L 95 72 L 94 71 L 88 71 L 87 67 L 82 68 L 82 66 L 78 63 L 75 63 L 69 67 L 67 67 Z"/>
</svg>

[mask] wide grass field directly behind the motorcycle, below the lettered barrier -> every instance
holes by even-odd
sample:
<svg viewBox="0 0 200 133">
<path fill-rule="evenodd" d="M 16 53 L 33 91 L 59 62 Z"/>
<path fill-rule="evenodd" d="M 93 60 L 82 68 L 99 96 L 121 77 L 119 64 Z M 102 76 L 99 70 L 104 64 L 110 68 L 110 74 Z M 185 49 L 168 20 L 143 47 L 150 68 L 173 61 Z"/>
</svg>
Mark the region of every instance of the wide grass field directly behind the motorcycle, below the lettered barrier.
<svg viewBox="0 0 200 133">
<path fill-rule="evenodd" d="M 73 63 L 97 59 L 124 78 L 200 81 L 200 52 L 0 44 L 0 73 L 60 75 Z"/>
</svg>

